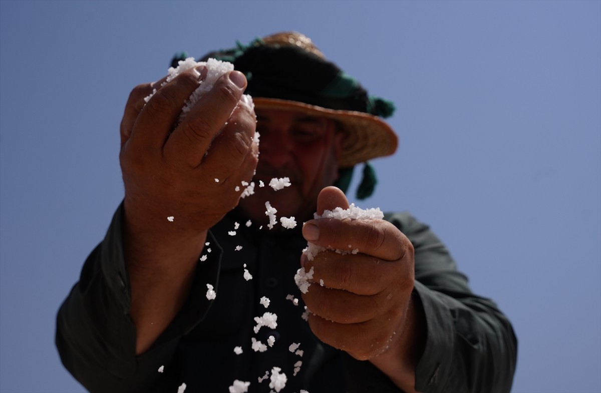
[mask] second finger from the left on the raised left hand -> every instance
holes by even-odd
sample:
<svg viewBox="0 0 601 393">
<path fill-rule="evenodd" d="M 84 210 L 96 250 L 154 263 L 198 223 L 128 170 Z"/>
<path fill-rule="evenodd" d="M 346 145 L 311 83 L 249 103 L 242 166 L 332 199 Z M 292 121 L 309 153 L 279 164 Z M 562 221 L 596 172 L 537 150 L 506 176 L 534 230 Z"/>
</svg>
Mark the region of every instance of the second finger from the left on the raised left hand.
<svg viewBox="0 0 601 393">
<path fill-rule="evenodd" d="M 160 151 L 199 78 L 197 69 L 186 70 L 160 87 L 141 109 L 130 136 L 132 142 L 142 150 Z"/>
</svg>

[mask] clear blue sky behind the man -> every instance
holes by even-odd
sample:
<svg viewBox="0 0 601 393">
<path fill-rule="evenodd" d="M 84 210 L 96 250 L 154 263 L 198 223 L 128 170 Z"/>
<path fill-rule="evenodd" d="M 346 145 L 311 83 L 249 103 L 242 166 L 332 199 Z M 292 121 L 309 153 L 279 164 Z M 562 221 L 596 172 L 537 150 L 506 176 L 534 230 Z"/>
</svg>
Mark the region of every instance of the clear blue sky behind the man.
<svg viewBox="0 0 601 393">
<path fill-rule="evenodd" d="M 509 315 L 513 391 L 601 391 L 600 20 L 599 1 L 0 1 L 0 391 L 83 390 L 55 314 L 123 196 L 129 91 L 179 50 L 290 29 L 396 103 L 359 206 L 428 222 Z"/>
</svg>

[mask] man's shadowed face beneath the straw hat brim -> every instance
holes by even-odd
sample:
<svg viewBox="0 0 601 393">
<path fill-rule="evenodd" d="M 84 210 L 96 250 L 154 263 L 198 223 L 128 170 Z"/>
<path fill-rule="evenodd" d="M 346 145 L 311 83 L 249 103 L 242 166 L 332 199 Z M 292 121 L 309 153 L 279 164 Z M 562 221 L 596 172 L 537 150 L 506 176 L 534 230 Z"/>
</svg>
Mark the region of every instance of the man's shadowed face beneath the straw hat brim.
<svg viewBox="0 0 601 393">
<path fill-rule="evenodd" d="M 266 225 L 265 202 L 269 201 L 278 218 L 294 216 L 302 224 L 313 218 L 320 190 L 338 177 L 343 134 L 327 118 L 295 111 L 255 112 L 261 135 L 255 193 L 240 200 L 239 209 L 255 224 Z M 291 186 L 273 190 L 269 186 L 273 177 L 288 177 Z M 264 187 L 259 187 L 259 180 Z"/>
</svg>

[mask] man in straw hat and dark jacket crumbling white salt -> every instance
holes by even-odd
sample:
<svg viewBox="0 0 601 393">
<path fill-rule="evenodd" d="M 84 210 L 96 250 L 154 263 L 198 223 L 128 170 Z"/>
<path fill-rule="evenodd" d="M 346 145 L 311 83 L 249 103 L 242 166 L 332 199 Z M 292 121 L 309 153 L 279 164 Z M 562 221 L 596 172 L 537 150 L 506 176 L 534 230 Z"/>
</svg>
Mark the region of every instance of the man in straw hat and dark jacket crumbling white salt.
<svg viewBox="0 0 601 393">
<path fill-rule="evenodd" d="M 376 116 L 391 106 L 302 34 L 210 56 L 238 71 L 177 126 L 203 67 L 130 95 L 124 201 L 58 314 L 67 369 L 90 391 L 509 391 L 510 323 L 425 225 L 312 219 L 349 207 L 329 187 L 344 189 L 349 168 L 394 152 Z M 289 187 L 257 185 L 282 177 Z M 267 201 L 306 224 L 268 229 Z M 308 241 L 328 249 L 309 260 Z M 313 273 L 302 294 L 301 266 Z"/>
</svg>

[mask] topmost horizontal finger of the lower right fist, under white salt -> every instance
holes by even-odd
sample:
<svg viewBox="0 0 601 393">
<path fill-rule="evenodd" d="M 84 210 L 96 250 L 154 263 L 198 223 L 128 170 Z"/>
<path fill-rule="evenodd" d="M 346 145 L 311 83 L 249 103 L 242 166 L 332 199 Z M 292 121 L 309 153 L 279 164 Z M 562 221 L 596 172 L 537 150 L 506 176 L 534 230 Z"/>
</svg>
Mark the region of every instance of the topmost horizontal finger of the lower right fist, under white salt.
<svg viewBox="0 0 601 393">
<path fill-rule="evenodd" d="M 397 227 L 380 219 L 314 219 L 303 225 L 302 233 L 308 242 L 333 249 L 358 249 L 386 261 L 402 258 L 410 246 Z"/>
</svg>

